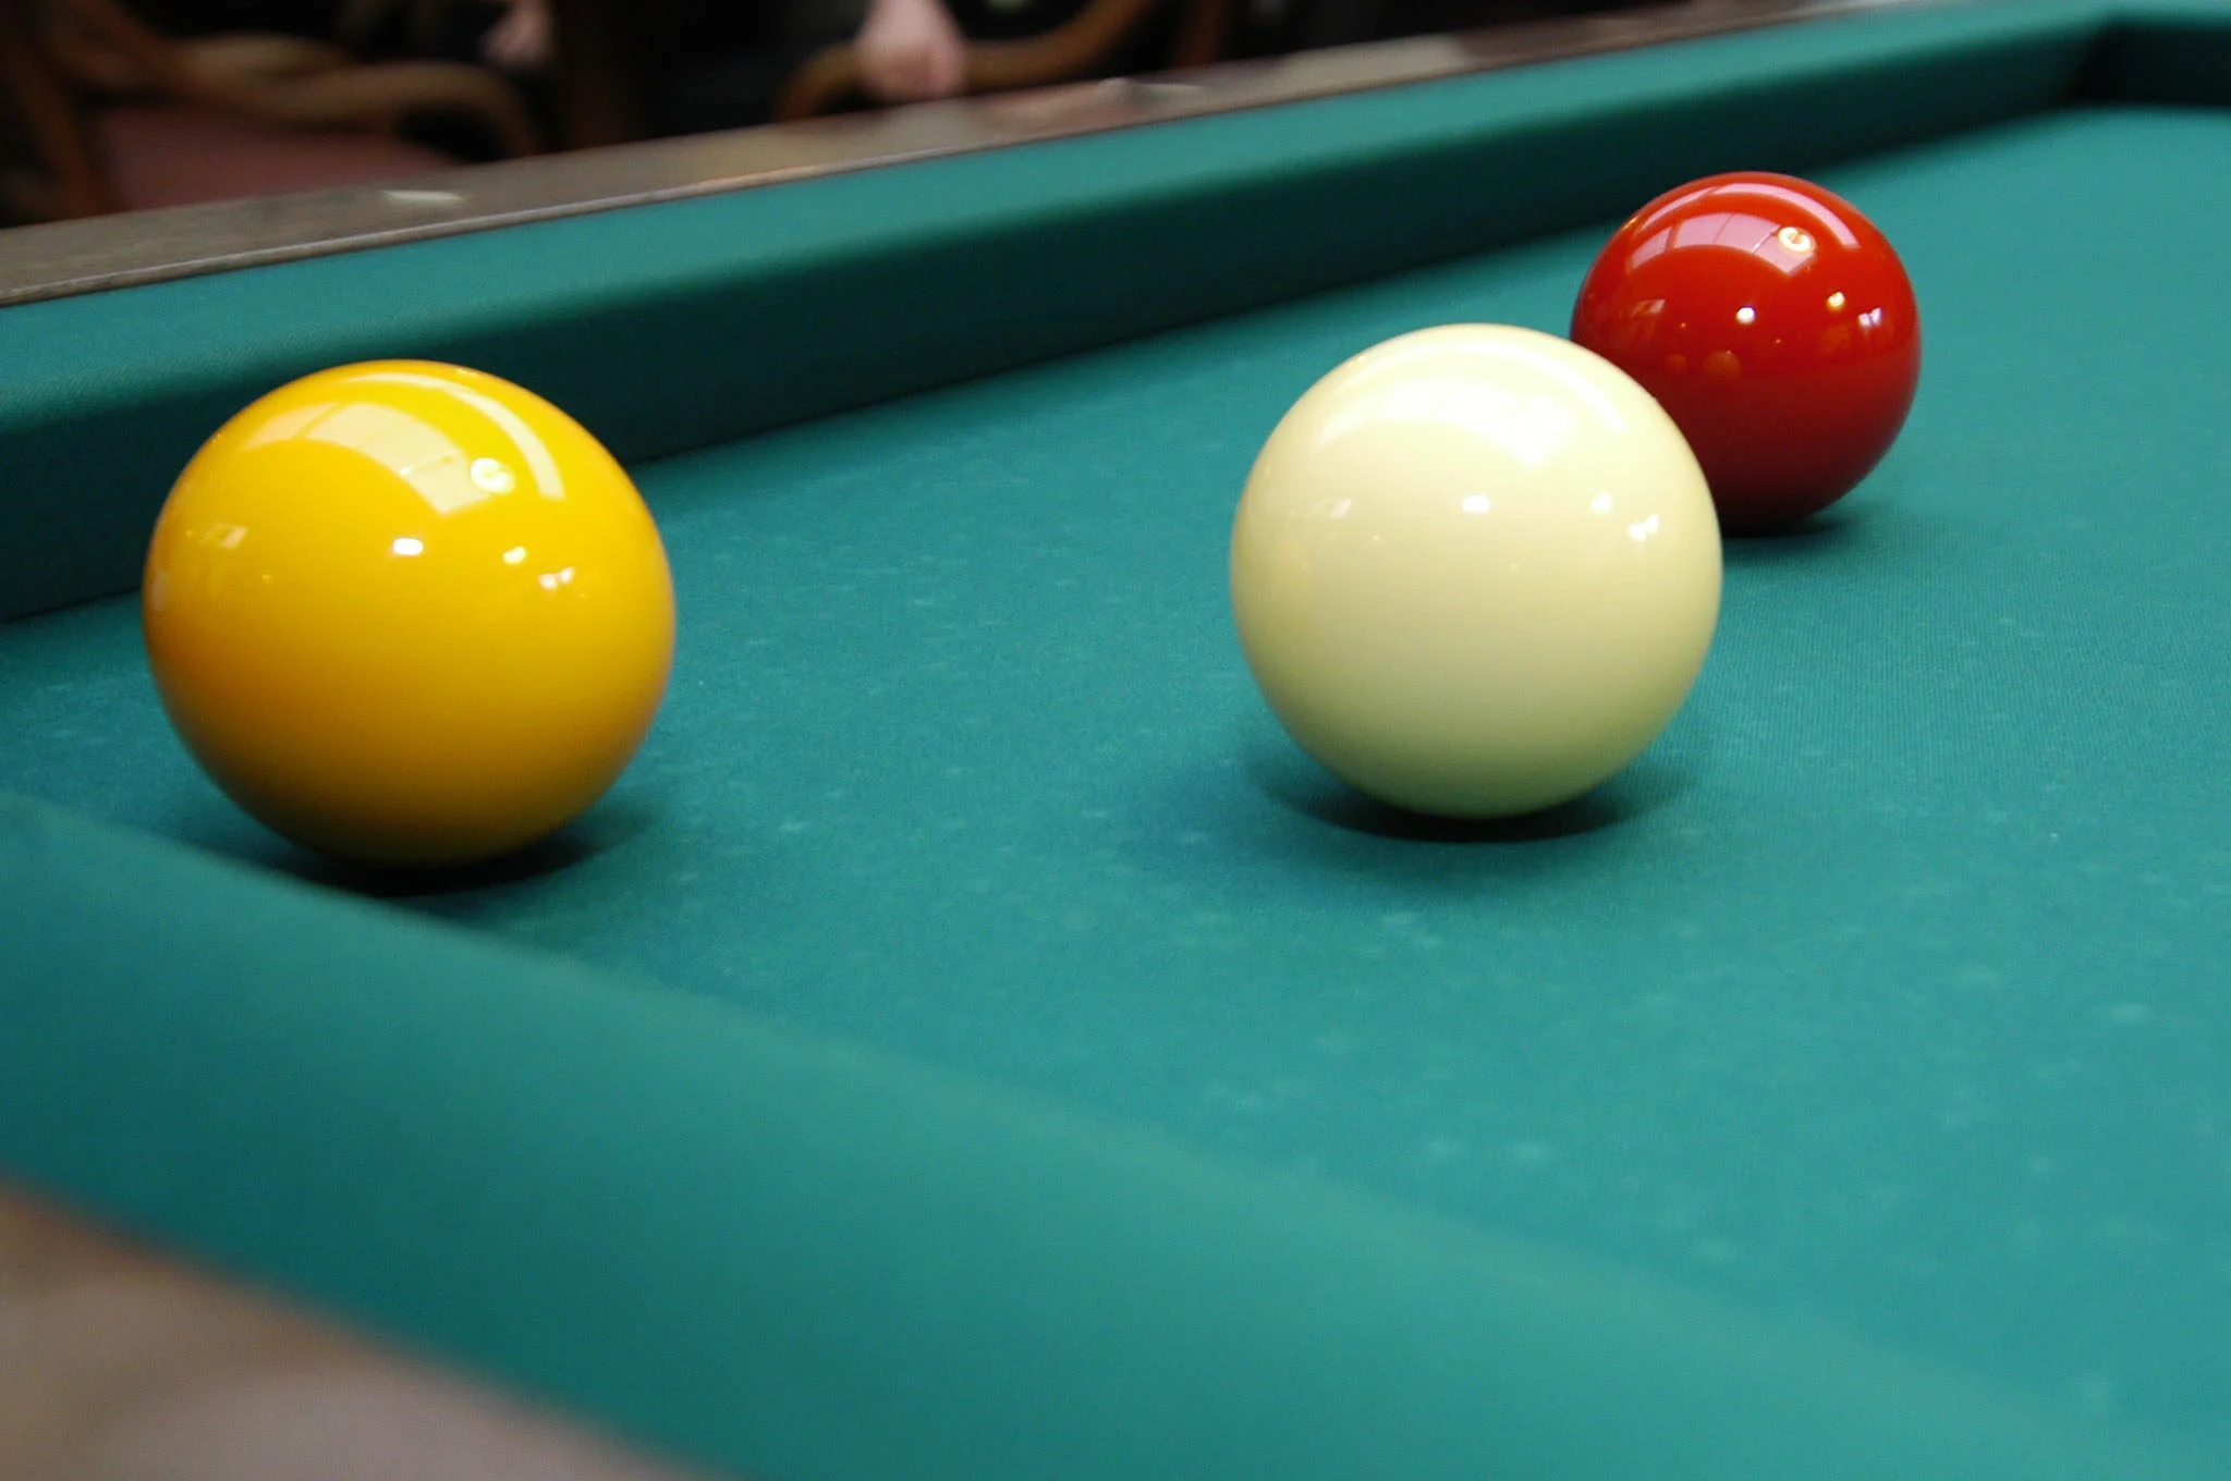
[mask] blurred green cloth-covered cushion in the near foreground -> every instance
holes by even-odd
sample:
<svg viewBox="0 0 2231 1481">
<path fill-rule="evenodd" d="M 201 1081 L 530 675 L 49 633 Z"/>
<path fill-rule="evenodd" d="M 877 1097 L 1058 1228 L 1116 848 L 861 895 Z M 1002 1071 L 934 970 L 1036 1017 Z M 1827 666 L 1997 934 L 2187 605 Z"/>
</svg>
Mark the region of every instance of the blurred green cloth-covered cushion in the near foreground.
<svg viewBox="0 0 2231 1481">
<path fill-rule="evenodd" d="M 45 807 L 0 805 L 0 899 L 38 921 L 0 977 L 42 1051 L 0 1077 L 18 1175 L 761 1474 L 2215 1474 Z"/>
</svg>

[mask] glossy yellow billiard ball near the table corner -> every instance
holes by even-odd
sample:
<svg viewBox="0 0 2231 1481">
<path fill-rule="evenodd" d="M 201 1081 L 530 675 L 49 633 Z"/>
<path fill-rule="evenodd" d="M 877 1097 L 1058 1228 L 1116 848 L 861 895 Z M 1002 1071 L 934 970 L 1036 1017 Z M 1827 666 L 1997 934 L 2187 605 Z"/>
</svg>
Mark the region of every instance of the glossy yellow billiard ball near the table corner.
<svg viewBox="0 0 2231 1481">
<path fill-rule="evenodd" d="M 384 865 L 585 812 L 674 660 L 667 555 L 611 453 L 428 361 L 321 370 L 219 428 L 156 522 L 141 616 L 201 767 L 288 839 Z"/>
</svg>

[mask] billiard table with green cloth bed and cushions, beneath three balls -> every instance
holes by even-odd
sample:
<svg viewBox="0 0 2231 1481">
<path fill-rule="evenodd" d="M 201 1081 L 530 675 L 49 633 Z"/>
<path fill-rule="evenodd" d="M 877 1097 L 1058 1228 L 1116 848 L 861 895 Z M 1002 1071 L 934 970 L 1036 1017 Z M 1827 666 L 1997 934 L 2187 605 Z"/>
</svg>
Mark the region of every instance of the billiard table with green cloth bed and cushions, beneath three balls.
<svg viewBox="0 0 2231 1481">
<path fill-rule="evenodd" d="M 1704 11 L 18 292 L 0 1175 L 772 1481 L 2231 1474 L 2231 4 Z M 1232 633 L 1263 437 L 1722 167 L 1899 245 L 1901 442 L 1595 794 L 1345 792 Z M 676 580 L 631 772 L 460 874 L 245 821 L 132 598 L 375 355 Z"/>
</svg>

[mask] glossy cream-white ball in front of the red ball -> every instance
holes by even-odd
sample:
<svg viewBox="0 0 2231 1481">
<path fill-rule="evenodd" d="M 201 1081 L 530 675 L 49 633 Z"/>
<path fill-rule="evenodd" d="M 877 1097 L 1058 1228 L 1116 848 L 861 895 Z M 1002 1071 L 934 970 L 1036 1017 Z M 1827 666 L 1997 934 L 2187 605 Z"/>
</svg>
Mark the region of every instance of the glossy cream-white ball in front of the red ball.
<svg viewBox="0 0 2231 1481">
<path fill-rule="evenodd" d="M 1720 616 L 1720 524 L 1673 419 L 1510 326 L 1401 335 L 1256 457 L 1232 607 L 1305 752 L 1385 803 L 1513 816 L 1658 738 Z"/>
</svg>

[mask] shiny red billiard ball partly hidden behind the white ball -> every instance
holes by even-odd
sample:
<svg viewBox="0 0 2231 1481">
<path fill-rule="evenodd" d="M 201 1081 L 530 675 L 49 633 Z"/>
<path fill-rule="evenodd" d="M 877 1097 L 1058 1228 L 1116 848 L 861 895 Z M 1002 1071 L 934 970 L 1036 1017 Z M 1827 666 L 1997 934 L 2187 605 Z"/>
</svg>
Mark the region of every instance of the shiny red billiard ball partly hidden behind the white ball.
<svg viewBox="0 0 2231 1481">
<path fill-rule="evenodd" d="M 1573 341 L 1658 397 L 1729 531 L 1849 493 L 1921 379 L 1899 254 L 1847 201 L 1787 174 L 1716 174 L 1635 212 L 1582 283 Z"/>
</svg>

